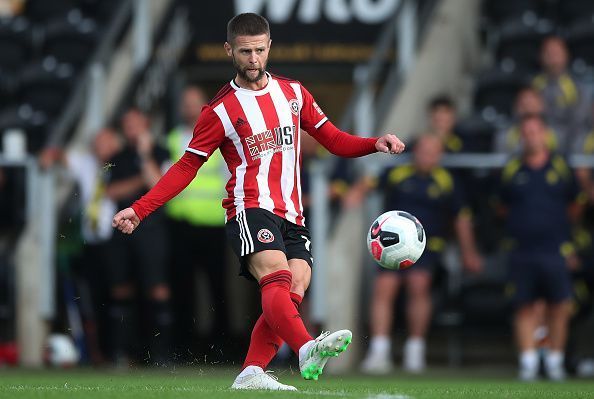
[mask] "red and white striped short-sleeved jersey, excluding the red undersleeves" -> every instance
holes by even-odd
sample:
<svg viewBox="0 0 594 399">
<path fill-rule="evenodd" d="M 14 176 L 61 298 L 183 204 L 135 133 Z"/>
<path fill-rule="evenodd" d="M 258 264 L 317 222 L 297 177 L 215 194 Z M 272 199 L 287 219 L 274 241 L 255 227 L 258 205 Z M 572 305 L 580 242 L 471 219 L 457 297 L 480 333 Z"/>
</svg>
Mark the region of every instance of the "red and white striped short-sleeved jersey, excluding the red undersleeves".
<svg viewBox="0 0 594 399">
<path fill-rule="evenodd" d="M 231 173 L 223 200 L 227 220 L 261 208 L 304 225 L 300 131 L 315 137 L 328 118 L 301 83 L 267 76 L 261 90 L 225 85 L 204 106 L 186 151 L 208 159 L 220 148 Z"/>
</svg>

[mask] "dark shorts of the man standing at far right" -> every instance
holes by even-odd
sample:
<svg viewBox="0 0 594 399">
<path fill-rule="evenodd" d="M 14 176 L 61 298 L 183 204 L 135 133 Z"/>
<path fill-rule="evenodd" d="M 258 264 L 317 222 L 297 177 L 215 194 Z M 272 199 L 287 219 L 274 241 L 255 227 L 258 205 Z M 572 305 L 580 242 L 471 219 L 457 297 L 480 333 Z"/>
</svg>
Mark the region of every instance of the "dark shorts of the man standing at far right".
<svg viewBox="0 0 594 399">
<path fill-rule="evenodd" d="M 537 299 L 559 303 L 571 298 L 571 274 L 559 253 L 513 251 L 508 273 L 516 306 Z"/>
</svg>

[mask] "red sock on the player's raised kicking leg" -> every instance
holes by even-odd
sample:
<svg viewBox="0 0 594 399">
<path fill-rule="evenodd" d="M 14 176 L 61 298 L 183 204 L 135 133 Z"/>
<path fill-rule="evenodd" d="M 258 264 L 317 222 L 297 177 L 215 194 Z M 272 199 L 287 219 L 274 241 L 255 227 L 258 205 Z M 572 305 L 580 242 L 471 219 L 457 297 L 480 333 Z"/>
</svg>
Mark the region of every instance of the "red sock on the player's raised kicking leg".
<svg viewBox="0 0 594 399">
<path fill-rule="evenodd" d="M 272 331 L 295 353 L 299 353 L 299 348 L 312 338 L 291 300 L 291 279 L 292 274 L 288 270 L 280 270 L 262 277 L 262 313 Z"/>
</svg>

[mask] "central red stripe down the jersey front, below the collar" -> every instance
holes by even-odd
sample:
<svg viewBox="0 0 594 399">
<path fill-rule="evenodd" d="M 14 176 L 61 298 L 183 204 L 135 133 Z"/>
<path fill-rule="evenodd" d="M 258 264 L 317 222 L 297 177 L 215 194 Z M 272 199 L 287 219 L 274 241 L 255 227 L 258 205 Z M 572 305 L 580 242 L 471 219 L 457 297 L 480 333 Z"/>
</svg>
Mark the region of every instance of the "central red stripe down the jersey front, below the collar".
<svg viewBox="0 0 594 399">
<path fill-rule="evenodd" d="M 272 98 L 270 98 L 270 94 L 258 96 L 256 97 L 256 100 L 258 101 L 258 105 L 262 111 L 262 116 L 264 116 L 266 128 L 273 132 L 273 138 L 277 139 L 276 135 L 279 134 L 281 135 L 282 139 L 282 133 L 274 131 L 274 128 L 280 127 L 280 121 L 278 120 L 278 115 L 276 114 L 276 109 L 274 107 L 274 103 L 272 102 Z M 270 168 L 268 169 L 268 188 L 270 190 L 270 197 L 274 202 L 274 213 L 284 218 L 285 214 L 287 213 L 287 205 L 283 201 L 283 193 L 281 189 L 282 169 L 283 152 L 275 152 L 272 155 Z"/>
</svg>

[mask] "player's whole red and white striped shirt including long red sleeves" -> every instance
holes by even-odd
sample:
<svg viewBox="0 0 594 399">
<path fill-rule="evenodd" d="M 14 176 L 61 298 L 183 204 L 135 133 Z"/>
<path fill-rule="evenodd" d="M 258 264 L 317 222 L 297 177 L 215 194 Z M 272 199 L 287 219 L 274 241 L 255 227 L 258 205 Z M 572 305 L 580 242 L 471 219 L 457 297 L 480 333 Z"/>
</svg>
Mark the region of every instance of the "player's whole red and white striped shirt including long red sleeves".
<svg viewBox="0 0 594 399">
<path fill-rule="evenodd" d="M 301 129 L 335 155 L 376 152 L 377 138 L 351 136 L 336 128 L 299 82 L 267 76 L 262 90 L 243 89 L 232 81 L 204 106 L 185 155 L 132 204 L 140 220 L 190 184 L 219 148 L 231 172 L 223 200 L 227 220 L 244 209 L 262 208 L 304 225 Z"/>
</svg>

